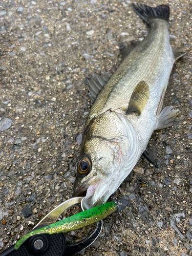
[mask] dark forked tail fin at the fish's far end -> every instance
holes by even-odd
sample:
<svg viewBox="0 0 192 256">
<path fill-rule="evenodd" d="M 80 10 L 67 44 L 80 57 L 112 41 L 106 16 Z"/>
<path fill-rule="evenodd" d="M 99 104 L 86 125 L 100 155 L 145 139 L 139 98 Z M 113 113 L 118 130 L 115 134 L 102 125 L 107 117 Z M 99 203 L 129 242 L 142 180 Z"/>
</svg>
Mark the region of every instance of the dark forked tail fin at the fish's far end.
<svg viewBox="0 0 192 256">
<path fill-rule="evenodd" d="M 147 5 L 143 5 L 143 4 L 135 5 L 133 3 L 132 8 L 147 23 L 150 23 L 150 19 L 154 19 L 154 18 L 164 19 L 166 20 L 166 22 L 168 22 L 169 12 L 170 12 L 168 5 L 159 5 L 153 8 Z"/>
</svg>

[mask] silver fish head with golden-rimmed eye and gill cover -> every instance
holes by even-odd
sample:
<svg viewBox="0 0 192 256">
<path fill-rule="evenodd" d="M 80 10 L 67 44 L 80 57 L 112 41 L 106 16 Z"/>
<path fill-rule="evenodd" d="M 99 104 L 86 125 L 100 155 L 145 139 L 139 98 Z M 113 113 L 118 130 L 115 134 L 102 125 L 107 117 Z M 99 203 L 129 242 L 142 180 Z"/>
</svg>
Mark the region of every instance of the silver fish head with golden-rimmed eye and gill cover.
<svg viewBox="0 0 192 256">
<path fill-rule="evenodd" d="M 126 161 L 130 153 L 127 129 L 118 115 L 105 112 L 95 118 L 83 136 L 73 196 L 86 194 L 86 209 L 105 203 L 129 175 Z"/>
</svg>

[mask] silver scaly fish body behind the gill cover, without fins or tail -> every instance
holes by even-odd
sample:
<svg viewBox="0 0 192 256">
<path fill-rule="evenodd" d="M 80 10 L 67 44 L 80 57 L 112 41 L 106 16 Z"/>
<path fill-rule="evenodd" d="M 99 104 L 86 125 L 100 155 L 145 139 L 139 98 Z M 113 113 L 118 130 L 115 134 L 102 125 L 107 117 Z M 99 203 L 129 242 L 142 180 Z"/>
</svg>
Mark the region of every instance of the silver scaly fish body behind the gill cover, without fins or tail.
<svg viewBox="0 0 192 256">
<path fill-rule="evenodd" d="M 170 72 L 175 61 L 169 44 L 168 24 L 155 19 L 145 40 L 121 63 L 117 71 L 96 98 L 90 111 L 85 129 L 93 117 L 107 110 L 116 112 L 129 105 L 137 84 L 144 80 L 150 87 L 150 100 L 139 118 L 126 116 L 138 134 L 140 155 L 145 150 L 157 122 L 157 108 L 165 92 Z"/>
</svg>

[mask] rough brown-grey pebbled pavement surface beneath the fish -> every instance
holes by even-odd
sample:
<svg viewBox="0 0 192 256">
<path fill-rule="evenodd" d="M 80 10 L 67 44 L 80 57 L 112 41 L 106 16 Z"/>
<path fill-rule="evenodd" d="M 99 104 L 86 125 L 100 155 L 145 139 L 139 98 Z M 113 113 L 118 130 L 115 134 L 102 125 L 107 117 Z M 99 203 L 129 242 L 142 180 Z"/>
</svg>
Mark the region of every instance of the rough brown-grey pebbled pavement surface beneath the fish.
<svg viewBox="0 0 192 256">
<path fill-rule="evenodd" d="M 141 157 L 132 181 L 113 195 L 129 199 L 129 208 L 104 220 L 100 237 L 81 252 L 86 256 L 192 254 L 192 4 L 142 3 L 169 4 L 171 45 L 188 52 L 175 63 L 163 104 L 184 119 L 154 132 L 159 168 Z M 83 73 L 119 65 L 119 44 L 143 40 L 148 28 L 131 1 L 120 0 L 4 0 L 0 24 L 2 251 L 72 196 L 92 105 Z"/>
</svg>

